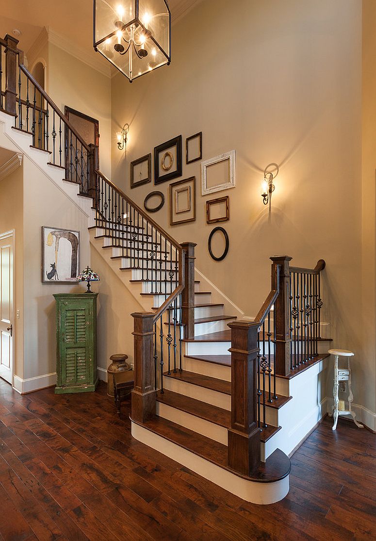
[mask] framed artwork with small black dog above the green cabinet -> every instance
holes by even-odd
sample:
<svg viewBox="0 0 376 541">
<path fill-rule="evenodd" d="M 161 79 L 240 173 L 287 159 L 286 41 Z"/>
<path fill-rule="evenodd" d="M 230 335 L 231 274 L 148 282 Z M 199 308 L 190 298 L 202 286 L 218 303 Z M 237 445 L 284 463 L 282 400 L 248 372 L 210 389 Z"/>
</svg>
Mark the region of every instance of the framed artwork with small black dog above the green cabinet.
<svg viewBox="0 0 376 541">
<path fill-rule="evenodd" d="M 42 227 L 42 282 L 76 282 L 80 272 L 80 232 Z"/>
</svg>

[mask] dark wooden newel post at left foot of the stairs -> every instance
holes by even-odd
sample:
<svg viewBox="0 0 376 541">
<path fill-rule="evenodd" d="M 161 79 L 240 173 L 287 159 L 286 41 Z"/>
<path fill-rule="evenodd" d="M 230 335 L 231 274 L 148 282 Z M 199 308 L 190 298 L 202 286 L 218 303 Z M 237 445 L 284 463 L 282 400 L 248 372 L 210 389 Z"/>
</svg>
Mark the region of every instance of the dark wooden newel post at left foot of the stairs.
<svg viewBox="0 0 376 541">
<path fill-rule="evenodd" d="M 155 416 L 155 384 L 153 358 L 153 319 L 148 312 L 131 314 L 134 318 L 135 388 L 132 391 L 134 421 L 145 423 Z"/>
</svg>

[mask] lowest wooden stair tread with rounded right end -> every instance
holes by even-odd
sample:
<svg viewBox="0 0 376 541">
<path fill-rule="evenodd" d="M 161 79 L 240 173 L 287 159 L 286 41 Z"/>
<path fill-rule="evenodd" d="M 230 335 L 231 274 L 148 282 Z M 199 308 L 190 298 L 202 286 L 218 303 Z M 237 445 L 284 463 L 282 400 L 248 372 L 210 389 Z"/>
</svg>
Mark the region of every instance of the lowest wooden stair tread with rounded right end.
<svg viewBox="0 0 376 541">
<path fill-rule="evenodd" d="M 215 440 L 201 436 L 197 432 L 184 428 L 183 426 L 172 423 L 162 417 L 154 417 L 146 423 L 133 421 L 134 423 L 154 432 L 158 436 L 165 438 L 172 443 L 187 449 L 188 451 L 202 457 L 213 464 L 222 467 L 234 473 L 238 477 L 249 481 L 259 483 L 271 483 L 286 477 L 291 470 L 289 458 L 279 449 L 274 451 L 265 463 L 260 462 L 260 467 L 252 475 L 248 477 L 236 472 L 227 465 L 227 446 L 218 443 Z"/>
</svg>

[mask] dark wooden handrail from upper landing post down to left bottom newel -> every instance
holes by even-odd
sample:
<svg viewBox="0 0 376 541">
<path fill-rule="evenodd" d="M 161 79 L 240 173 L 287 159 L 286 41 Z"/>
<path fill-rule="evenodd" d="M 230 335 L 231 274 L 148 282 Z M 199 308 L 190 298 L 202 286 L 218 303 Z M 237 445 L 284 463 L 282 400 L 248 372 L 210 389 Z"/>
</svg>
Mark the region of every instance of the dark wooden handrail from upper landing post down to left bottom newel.
<svg viewBox="0 0 376 541">
<path fill-rule="evenodd" d="M 157 312 L 155 313 L 153 322 L 156 323 L 157 320 L 163 315 L 164 312 L 166 312 L 167 308 L 171 305 L 172 302 L 177 298 L 177 296 L 182 293 L 184 289 L 184 251 L 182 247 L 180 246 L 179 242 L 177 242 L 173 237 L 171 237 L 167 231 L 165 231 L 157 222 L 155 222 L 148 214 L 142 210 L 141 207 L 139 207 L 133 200 L 128 197 L 127 194 L 125 194 L 120 188 L 116 186 L 110 179 L 108 179 L 101 171 L 96 170 L 96 174 L 101 177 L 102 180 L 106 184 L 108 184 L 120 197 L 124 199 L 124 201 L 127 201 L 131 207 L 133 207 L 138 214 L 140 214 L 151 226 L 155 228 L 156 231 L 158 231 L 163 237 L 165 237 L 172 246 L 175 247 L 176 252 L 179 254 L 179 286 L 177 286 L 173 292 L 169 294 L 167 299 L 163 302 L 163 304 L 159 307 Z"/>
</svg>

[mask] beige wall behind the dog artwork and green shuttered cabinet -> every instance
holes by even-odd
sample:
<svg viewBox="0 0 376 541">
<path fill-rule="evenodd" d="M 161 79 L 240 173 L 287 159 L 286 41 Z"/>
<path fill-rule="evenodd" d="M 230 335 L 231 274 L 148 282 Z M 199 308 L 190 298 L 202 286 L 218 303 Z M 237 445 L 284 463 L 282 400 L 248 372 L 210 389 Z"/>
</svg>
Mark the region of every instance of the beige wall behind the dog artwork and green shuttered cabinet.
<svg viewBox="0 0 376 541">
<path fill-rule="evenodd" d="M 49 177 L 23 161 L 24 186 L 24 374 L 25 379 L 56 371 L 54 293 L 84 292 L 82 285 L 41 282 L 41 227 L 80 231 L 80 267 L 90 265 L 88 218 Z"/>
</svg>

